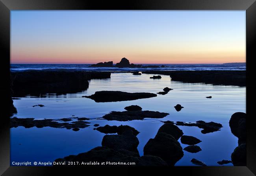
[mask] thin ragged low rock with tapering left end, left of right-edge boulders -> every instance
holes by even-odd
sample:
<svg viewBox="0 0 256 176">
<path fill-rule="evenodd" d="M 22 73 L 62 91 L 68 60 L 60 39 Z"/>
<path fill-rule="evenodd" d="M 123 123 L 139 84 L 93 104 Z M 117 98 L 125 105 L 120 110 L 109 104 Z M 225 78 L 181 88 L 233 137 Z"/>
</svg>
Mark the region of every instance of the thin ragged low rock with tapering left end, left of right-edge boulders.
<svg viewBox="0 0 256 176">
<path fill-rule="evenodd" d="M 202 120 L 198 120 L 196 123 L 185 123 L 185 122 L 176 122 L 178 126 L 197 126 L 198 128 L 202 128 L 201 133 L 212 133 L 219 131 L 223 126 L 222 124 L 215 122 L 204 122 Z"/>
</svg>

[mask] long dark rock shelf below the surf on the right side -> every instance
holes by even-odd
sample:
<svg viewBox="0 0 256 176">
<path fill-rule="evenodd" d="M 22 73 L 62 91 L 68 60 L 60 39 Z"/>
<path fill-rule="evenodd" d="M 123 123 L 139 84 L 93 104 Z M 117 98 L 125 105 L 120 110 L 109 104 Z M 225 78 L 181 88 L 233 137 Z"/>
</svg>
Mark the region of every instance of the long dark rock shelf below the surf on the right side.
<svg viewBox="0 0 256 176">
<path fill-rule="evenodd" d="M 169 75 L 173 81 L 246 86 L 246 70 L 158 70 L 142 73 Z"/>
</svg>

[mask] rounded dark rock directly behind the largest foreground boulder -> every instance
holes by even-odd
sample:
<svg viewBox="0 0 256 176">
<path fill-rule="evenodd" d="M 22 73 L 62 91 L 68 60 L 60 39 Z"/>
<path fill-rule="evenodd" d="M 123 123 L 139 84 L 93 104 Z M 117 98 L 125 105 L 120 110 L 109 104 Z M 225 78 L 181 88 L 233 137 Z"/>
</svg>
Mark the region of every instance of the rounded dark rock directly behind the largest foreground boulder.
<svg viewBox="0 0 256 176">
<path fill-rule="evenodd" d="M 158 133 L 167 133 L 169 135 L 172 135 L 176 140 L 180 139 L 180 137 L 183 135 L 182 130 L 180 130 L 178 126 L 170 123 L 163 124 L 159 128 Z"/>
</svg>

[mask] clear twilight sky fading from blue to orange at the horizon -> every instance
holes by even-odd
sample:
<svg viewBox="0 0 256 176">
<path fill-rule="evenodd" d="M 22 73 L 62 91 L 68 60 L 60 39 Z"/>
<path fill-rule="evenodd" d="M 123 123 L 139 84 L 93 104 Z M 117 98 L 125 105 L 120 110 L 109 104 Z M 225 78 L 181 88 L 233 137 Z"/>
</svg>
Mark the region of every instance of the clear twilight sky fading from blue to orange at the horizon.
<svg viewBox="0 0 256 176">
<path fill-rule="evenodd" d="M 246 11 L 11 11 L 11 63 L 245 62 Z"/>
</svg>

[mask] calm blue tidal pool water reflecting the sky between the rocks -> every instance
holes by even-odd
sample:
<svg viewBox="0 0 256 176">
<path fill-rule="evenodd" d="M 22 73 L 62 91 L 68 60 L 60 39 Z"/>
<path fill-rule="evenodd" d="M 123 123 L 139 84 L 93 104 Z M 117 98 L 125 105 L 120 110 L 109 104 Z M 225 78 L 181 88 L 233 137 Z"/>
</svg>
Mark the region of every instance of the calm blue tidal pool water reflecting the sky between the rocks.
<svg viewBox="0 0 256 176">
<path fill-rule="evenodd" d="M 231 153 L 237 146 L 237 138 L 232 135 L 228 125 L 231 115 L 237 111 L 245 112 L 245 87 L 210 85 L 200 83 L 182 83 L 171 81 L 169 76 L 162 76 L 160 80 L 152 80 L 150 74 L 132 75 L 131 73 L 112 73 L 111 79 L 91 80 L 89 88 L 82 93 L 67 95 L 49 95 L 46 98 L 21 98 L 13 100 L 19 118 L 59 119 L 63 117 L 88 117 L 91 126 L 78 132 L 59 128 L 11 128 L 11 161 L 54 161 L 59 157 L 79 154 L 101 146 L 104 133 L 96 130 L 93 124 L 100 126 L 129 125 L 140 133 L 138 150 L 143 155 L 143 147 L 148 139 L 154 138 L 156 132 L 163 125 L 160 120 L 195 122 L 218 122 L 223 125 L 221 131 L 202 134 L 202 129 L 189 126 L 178 126 L 184 135 L 192 135 L 202 142 L 198 144 L 202 151 L 192 154 L 184 151 L 184 157 L 176 165 L 193 165 L 190 160 L 196 158 L 206 165 L 218 165 L 223 159 L 230 160 Z M 95 91 L 112 90 L 126 92 L 157 93 L 164 87 L 174 90 L 166 95 L 153 98 L 123 102 L 96 103 L 83 95 L 94 94 Z M 205 96 L 212 96 L 211 99 Z M 32 107 L 43 104 L 45 107 Z M 177 112 L 176 104 L 184 108 Z M 96 120 L 110 111 L 125 111 L 123 108 L 138 105 L 143 110 L 169 113 L 163 119 L 132 120 L 129 122 Z M 179 140 L 180 141 L 180 140 Z M 21 144 L 21 145 L 20 145 Z M 182 148 L 187 145 L 181 144 Z M 232 165 L 232 164 L 228 164 Z M 194 166 L 194 165 L 193 165 Z"/>
</svg>

